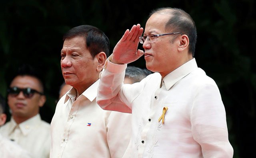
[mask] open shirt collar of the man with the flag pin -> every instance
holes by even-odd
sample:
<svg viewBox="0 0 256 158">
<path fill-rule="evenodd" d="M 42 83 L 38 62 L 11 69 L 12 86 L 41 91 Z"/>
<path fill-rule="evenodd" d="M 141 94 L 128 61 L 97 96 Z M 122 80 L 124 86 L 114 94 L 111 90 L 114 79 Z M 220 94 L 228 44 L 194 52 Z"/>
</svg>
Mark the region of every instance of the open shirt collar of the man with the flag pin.
<svg viewBox="0 0 256 158">
<path fill-rule="evenodd" d="M 93 101 L 97 96 L 97 88 L 98 88 L 99 83 L 100 83 L 100 80 L 97 80 L 96 82 L 94 82 L 94 84 L 92 84 L 89 88 L 87 88 L 82 93 L 82 95 L 85 96 L 86 98 L 88 98 L 90 101 Z M 76 95 L 77 95 L 76 89 L 71 88 L 71 90 L 69 90 L 66 95 L 64 103 L 66 103 L 66 101 L 68 101 L 69 98 L 72 99 L 72 102 L 74 102 L 76 99 Z"/>
</svg>

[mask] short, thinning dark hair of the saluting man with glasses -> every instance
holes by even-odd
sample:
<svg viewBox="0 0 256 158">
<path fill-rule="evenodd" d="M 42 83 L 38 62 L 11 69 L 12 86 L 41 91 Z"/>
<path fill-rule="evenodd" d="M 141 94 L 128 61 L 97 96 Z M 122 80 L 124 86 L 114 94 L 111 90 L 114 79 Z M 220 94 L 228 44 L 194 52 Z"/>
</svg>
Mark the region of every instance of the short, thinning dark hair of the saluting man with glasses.
<svg viewBox="0 0 256 158">
<path fill-rule="evenodd" d="M 193 57 L 196 49 L 196 24 L 191 16 L 182 9 L 178 8 L 158 8 L 150 13 L 152 16 L 154 13 L 170 14 L 170 19 L 165 25 L 165 29 L 172 30 L 173 32 L 181 32 L 188 35 L 189 38 L 189 52 Z"/>
</svg>

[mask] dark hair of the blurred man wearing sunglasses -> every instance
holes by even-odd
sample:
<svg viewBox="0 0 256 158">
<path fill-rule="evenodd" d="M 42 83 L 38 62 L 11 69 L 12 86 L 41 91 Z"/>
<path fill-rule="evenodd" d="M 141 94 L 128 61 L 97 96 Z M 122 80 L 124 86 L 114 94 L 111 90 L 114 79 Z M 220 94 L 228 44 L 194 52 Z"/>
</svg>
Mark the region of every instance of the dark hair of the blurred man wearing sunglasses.
<svg viewBox="0 0 256 158">
<path fill-rule="evenodd" d="M 11 77 L 10 83 L 14 80 L 16 76 L 31 76 L 36 78 L 39 81 L 39 86 L 42 89 L 41 93 L 44 93 L 44 82 L 42 80 L 42 71 L 39 67 L 31 64 L 22 64 L 16 72 Z M 9 83 L 9 85 L 10 85 Z"/>
</svg>

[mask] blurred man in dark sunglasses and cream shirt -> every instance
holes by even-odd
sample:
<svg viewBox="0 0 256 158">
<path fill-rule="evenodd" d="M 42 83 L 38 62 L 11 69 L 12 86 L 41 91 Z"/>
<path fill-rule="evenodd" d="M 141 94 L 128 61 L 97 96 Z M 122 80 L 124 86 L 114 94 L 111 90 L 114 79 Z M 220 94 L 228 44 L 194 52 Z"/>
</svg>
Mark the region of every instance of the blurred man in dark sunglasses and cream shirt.
<svg viewBox="0 0 256 158">
<path fill-rule="evenodd" d="M 7 90 L 11 120 L 0 133 L 26 149 L 34 158 L 50 156 L 50 124 L 42 121 L 39 108 L 46 101 L 44 87 L 36 70 L 19 68 Z"/>
</svg>

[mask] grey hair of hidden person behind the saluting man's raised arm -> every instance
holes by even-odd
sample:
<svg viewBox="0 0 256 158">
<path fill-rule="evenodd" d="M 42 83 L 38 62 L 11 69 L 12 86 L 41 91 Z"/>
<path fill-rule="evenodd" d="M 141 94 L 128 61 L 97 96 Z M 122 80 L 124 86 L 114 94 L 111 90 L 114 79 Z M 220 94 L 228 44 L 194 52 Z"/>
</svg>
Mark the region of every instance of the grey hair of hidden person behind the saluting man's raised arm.
<svg viewBox="0 0 256 158">
<path fill-rule="evenodd" d="M 127 66 L 125 70 L 125 77 L 132 79 L 133 83 L 140 82 L 149 74 L 151 74 L 150 71 L 146 71 L 146 69 L 141 69 L 135 66 Z"/>
</svg>

